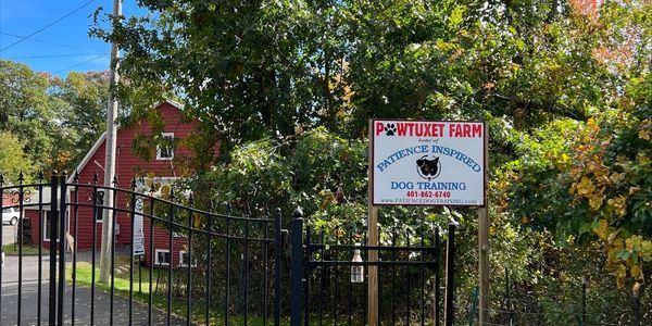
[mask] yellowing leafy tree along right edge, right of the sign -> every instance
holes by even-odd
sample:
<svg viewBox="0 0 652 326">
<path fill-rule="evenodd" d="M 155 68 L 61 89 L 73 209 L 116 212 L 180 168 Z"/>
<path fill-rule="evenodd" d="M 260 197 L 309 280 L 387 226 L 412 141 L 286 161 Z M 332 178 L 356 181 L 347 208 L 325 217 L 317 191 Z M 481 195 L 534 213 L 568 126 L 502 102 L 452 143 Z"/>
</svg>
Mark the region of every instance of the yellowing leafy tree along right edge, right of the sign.
<svg viewBox="0 0 652 326">
<path fill-rule="evenodd" d="M 611 86 L 585 104 L 592 116 L 587 124 L 556 121 L 534 138 L 514 133 L 522 159 L 505 166 L 499 188 L 506 190 L 502 203 L 515 217 L 554 230 L 557 240 L 602 243 L 617 285 L 630 280 L 638 288 L 652 261 L 651 78 L 640 65 L 650 49 L 622 49 L 632 46 L 623 33 L 650 34 L 643 23 L 650 11 L 649 4 L 610 4 L 601 13 L 585 22 L 593 29 L 584 37 L 592 51 L 584 52 Z"/>
</svg>

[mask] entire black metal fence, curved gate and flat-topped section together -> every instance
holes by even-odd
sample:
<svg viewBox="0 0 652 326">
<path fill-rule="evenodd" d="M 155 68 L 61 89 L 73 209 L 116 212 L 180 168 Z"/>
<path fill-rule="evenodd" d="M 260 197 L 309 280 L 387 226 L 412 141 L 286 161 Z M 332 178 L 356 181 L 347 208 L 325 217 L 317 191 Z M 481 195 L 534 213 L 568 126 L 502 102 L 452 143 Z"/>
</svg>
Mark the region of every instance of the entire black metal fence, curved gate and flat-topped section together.
<svg viewBox="0 0 652 326">
<path fill-rule="evenodd" d="M 288 254 L 278 210 L 273 218 L 216 214 L 189 192 L 116 185 L 99 185 L 97 174 L 5 185 L 0 175 L 11 198 L 0 210 L 20 214 L 15 253 L 0 269 L 1 325 L 365 325 L 369 268 L 378 269 L 381 325 L 442 319 L 437 229 L 380 229 L 381 246 L 368 246 L 363 230 L 304 227 L 297 211 Z M 122 233 L 109 236 L 101 281 L 105 216 Z M 379 261 L 366 261 L 371 251 Z"/>
</svg>

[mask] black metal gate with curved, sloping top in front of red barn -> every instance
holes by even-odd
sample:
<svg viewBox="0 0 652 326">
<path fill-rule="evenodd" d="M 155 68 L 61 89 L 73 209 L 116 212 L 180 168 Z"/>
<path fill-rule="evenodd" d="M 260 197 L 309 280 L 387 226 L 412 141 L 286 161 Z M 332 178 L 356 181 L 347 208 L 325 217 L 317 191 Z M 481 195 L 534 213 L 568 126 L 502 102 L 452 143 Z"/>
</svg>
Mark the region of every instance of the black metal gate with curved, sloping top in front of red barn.
<svg viewBox="0 0 652 326">
<path fill-rule="evenodd" d="M 0 175 L 10 198 L 0 211 L 20 212 L 15 254 L 0 269 L 1 325 L 279 325 L 280 211 L 215 214 L 193 208 L 192 193 L 163 199 L 136 185 L 100 186 L 97 174 L 87 184 L 52 174 L 49 183 L 21 175 L 5 185 Z M 111 203 L 102 200 L 109 192 Z M 122 228 L 108 252 L 108 283 L 98 269 L 103 214 Z"/>
</svg>

